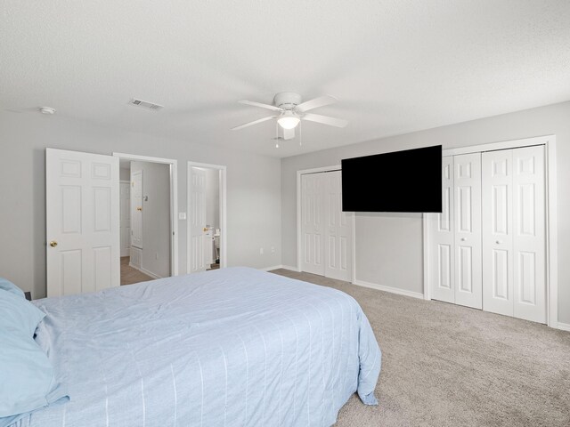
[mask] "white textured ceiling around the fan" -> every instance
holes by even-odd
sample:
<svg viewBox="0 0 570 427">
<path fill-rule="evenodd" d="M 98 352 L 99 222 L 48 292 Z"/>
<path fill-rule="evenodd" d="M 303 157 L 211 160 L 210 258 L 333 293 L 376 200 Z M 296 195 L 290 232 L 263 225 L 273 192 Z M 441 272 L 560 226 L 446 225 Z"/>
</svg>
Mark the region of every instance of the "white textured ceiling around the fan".
<svg viewBox="0 0 570 427">
<path fill-rule="evenodd" d="M 277 157 L 570 100 L 570 2 L 3 0 L 0 109 Z M 274 148 L 282 91 L 338 98 Z M 165 106 L 128 106 L 137 97 Z M 269 113 L 269 114 L 268 114 Z"/>
</svg>

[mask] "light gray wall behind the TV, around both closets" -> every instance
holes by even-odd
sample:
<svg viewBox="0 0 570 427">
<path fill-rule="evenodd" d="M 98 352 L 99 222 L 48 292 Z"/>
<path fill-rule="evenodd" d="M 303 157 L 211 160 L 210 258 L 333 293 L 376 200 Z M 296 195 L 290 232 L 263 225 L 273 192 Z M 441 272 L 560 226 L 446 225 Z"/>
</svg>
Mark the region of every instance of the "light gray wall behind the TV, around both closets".
<svg viewBox="0 0 570 427">
<path fill-rule="evenodd" d="M 557 136 L 558 154 L 558 320 L 570 324 L 570 102 L 284 158 L 282 263 L 297 266 L 297 170 L 339 165 L 342 158 L 399 149 L 436 144 L 451 149 L 549 134 Z M 355 238 L 358 280 L 423 292 L 420 215 L 357 214 Z"/>
</svg>

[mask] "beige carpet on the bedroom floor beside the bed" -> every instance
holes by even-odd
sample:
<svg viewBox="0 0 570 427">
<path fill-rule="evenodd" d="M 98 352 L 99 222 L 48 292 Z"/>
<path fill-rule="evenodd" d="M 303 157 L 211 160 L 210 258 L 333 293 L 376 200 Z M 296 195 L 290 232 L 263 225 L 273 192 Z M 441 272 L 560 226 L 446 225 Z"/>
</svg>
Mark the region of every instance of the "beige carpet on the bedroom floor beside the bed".
<svg viewBox="0 0 570 427">
<path fill-rule="evenodd" d="M 338 426 L 570 426 L 570 333 L 308 273 L 362 306 L 382 350 L 378 407 L 353 396 Z"/>
</svg>

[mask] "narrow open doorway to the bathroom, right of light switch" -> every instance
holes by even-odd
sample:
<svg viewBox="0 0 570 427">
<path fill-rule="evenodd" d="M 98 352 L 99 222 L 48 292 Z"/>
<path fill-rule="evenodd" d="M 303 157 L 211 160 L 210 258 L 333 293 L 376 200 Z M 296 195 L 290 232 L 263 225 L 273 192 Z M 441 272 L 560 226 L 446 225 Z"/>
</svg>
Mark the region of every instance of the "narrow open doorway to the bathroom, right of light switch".
<svg viewBox="0 0 570 427">
<path fill-rule="evenodd" d="M 227 265 L 225 166 L 188 162 L 188 270 Z"/>
</svg>

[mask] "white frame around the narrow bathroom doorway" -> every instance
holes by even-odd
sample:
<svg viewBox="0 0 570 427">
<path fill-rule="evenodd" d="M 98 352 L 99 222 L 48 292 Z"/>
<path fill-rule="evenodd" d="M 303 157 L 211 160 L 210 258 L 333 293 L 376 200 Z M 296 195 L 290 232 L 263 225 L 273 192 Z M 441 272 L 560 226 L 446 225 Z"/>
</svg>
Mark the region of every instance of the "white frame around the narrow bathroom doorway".
<svg viewBox="0 0 570 427">
<path fill-rule="evenodd" d="M 203 167 L 206 169 L 217 169 L 220 171 L 220 269 L 224 269 L 228 266 L 228 256 L 227 256 L 227 183 L 226 174 L 227 166 L 224 165 L 211 165 L 209 163 L 199 163 L 199 162 L 188 162 L 188 169 L 186 171 L 186 209 L 190 215 L 191 211 L 191 180 L 190 171 L 192 167 Z M 186 270 L 187 274 L 190 274 L 191 266 L 191 230 L 190 227 L 186 227 Z"/>
</svg>

